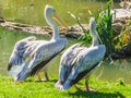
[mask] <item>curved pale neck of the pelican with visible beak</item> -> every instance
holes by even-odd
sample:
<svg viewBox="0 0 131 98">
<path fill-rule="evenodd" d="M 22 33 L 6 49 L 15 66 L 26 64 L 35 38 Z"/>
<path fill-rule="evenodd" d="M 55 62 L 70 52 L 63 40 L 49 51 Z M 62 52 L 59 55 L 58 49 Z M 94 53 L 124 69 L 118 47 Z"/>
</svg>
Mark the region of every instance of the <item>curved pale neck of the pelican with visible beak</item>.
<svg viewBox="0 0 131 98">
<path fill-rule="evenodd" d="M 60 36 L 59 36 L 59 28 L 58 28 L 57 24 L 55 23 L 55 21 L 51 19 L 50 15 L 45 14 L 45 17 L 46 17 L 47 23 L 52 28 L 52 39 L 55 39 L 55 40 L 59 39 Z"/>
</svg>

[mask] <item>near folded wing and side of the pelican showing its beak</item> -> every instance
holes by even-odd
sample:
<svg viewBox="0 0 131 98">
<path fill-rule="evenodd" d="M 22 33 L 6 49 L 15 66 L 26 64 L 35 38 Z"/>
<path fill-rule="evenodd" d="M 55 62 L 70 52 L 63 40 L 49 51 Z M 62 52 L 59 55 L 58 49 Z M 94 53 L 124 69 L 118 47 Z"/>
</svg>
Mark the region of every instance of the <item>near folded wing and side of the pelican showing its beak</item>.
<svg viewBox="0 0 131 98">
<path fill-rule="evenodd" d="M 67 41 L 63 41 L 63 40 L 31 41 L 31 46 L 25 49 L 22 56 L 22 57 L 25 57 L 22 64 L 15 65 L 16 66 L 15 70 L 10 71 L 11 72 L 10 74 L 14 76 L 15 81 L 25 79 L 28 75 L 31 75 L 34 68 L 37 68 L 37 70 L 40 70 L 45 64 L 39 66 L 39 63 L 44 61 L 46 62 L 49 61 L 50 58 L 58 54 L 62 49 L 64 49 L 66 45 L 67 45 Z M 19 54 L 16 54 L 15 57 L 17 56 Z M 35 72 L 37 70 L 35 70 Z"/>
</svg>

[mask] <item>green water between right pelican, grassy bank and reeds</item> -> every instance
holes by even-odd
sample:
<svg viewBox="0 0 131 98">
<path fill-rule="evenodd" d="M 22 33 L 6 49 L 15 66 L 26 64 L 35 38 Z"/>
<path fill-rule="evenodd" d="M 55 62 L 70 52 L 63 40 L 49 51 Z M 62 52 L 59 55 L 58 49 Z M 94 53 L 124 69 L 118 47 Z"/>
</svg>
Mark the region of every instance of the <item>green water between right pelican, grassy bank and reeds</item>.
<svg viewBox="0 0 131 98">
<path fill-rule="evenodd" d="M 97 77 L 107 79 L 110 82 L 123 82 L 131 84 L 131 59 L 118 60 L 112 64 L 110 62 L 104 62 L 94 73 Z"/>
</svg>

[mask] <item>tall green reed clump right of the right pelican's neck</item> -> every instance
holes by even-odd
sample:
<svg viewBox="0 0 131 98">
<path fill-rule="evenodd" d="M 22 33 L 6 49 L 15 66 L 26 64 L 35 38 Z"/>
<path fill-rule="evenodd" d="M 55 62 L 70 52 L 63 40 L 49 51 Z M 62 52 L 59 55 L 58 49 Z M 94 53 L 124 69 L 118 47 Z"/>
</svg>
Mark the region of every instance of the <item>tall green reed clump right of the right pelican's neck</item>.
<svg viewBox="0 0 131 98">
<path fill-rule="evenodd" d="M 112 14 L 110 4 L 111 0 L 106 4 L 106 9 L 96 15 L 96 29 L 102 38 L 103 44 L 106 46 L 107 57 L 115 52 L 115 35 L 111 25 Z"/>
</svg>

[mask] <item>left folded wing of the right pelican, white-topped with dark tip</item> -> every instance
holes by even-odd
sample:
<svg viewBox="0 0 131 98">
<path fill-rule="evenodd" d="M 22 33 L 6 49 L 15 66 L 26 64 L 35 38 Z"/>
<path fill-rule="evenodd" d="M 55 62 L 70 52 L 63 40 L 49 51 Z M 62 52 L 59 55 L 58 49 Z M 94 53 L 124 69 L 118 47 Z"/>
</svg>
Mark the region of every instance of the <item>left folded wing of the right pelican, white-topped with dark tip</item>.
<svg viewBox="0 0 131 98">
<path fill-rule="evenodd" d="M 71 46 L 64 51 L 64 53 L 61 57 L 59 75 L 61 81 L 63 82 L 68 78 L 73 66 L 73 60 L 81 50 L 81 48 L 79 47 L 79 44 Z"/>
</svg>

